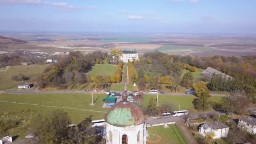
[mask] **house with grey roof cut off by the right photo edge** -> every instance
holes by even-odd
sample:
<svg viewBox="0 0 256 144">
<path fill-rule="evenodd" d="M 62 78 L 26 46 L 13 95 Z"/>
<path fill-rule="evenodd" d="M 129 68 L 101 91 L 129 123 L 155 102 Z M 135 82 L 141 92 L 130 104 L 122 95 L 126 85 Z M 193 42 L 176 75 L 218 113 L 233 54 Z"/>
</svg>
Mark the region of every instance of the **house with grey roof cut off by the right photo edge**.
<svg viewBox="0 0 256 144">
<path fill-rule="evenodd" d="M 247 116 L 241 117 L 237 123 L 238 128 L 244 128 L 248 133 L 256 134 L 256 118 Z"/>
</svg>

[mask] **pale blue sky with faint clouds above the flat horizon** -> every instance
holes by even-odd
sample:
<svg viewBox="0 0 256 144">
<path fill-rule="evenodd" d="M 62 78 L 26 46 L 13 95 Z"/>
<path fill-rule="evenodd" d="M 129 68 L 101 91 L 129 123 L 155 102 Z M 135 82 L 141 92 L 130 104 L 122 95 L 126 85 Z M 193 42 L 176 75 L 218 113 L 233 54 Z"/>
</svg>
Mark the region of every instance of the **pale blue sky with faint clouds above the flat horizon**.
<svg viewBox="0 0 256 144">
<path fill-rule="evenodd" d="M 256 33 L 256 0 L 0 0 L 0 31 Z"/>
</svg>

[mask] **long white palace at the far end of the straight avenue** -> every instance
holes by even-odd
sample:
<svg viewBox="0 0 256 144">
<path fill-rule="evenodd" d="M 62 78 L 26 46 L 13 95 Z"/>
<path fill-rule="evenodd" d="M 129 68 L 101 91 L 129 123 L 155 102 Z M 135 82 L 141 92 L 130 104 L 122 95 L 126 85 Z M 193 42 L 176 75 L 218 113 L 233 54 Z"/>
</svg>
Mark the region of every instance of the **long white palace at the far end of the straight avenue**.
<svg viewBox="0 0 256 144">
<path fill-rule="evenodd" d="M 120 56 L 120 60 L 123 61 L 124 63 L 128 63 L 128 60 L 133 61 L 139 60 L 139 54 L 134 50 L 121 50 L 123 53 L 122 56 Z"/>
</svg>

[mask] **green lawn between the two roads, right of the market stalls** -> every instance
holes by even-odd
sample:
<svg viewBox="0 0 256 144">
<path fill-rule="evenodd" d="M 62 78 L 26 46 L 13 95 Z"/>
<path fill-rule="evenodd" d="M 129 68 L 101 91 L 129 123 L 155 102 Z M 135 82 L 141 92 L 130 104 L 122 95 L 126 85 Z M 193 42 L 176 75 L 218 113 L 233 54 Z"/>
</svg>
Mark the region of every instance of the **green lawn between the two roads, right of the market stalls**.
<svg viewBox="0 0 256 144">
<path fill-rule="evenodd" d="M 141 105 L 147 106 L 149 103 L 150 97 L 153 97 L 156 99 L 156 95 L 146 95 L 143 96 L 144 101 L 141 102 Z M 158 104 L 161 105 L 165 101 L 171 101 L 173 104 L 175 104 L 177 110 L 189 110 L 191 113 L 198 113 L 198 111 L 194 108 L 194 105 L 192 104 L 193 99 L 195 99 L 195 96 L 168 96 L 168 95 L 158 95 Z M 212 102 L 219 102 L 221 100 L 221 97 L 210 97 L 210 101 Z M 208 109 L 208 111 L 213 110 L 211 107 Z"/>
</svg>

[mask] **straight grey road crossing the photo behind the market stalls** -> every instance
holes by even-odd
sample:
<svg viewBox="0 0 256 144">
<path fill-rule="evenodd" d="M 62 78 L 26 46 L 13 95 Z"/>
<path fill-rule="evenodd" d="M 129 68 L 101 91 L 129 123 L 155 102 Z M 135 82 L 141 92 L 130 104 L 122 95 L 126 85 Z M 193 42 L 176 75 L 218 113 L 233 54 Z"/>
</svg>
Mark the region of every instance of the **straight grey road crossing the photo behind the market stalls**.
<svg viewBox="0 0 256 144">
<path fill-rule="evenodd" d="M 119 93 L 122 93 L 123 91 L 117 91 Z M 6 91 L 0 91 L 0 93 L 8 93 L 8 94 L 32 94 L 32 93 L 57 93 L 57 94 L 61 94 L 61 93 L 95 93 L 95 94 L 104 94 L 103 92 L 93 92 L 93 91 L 89 91 L 89 92 L 85 92 L 85 91 L 40 91 L 40 90 L 6 90 Z M 155 93 L 148 93 L 145 92 L 146 95 L 156 95 Z M 185 94 L 185 93 L 164 93 L 164 94 L 159 94 L 158 96 L 192 96 L 189 94 Z M 211 96 L 227 96 L 224 94 L 211 94 Z"/>
</svg>

